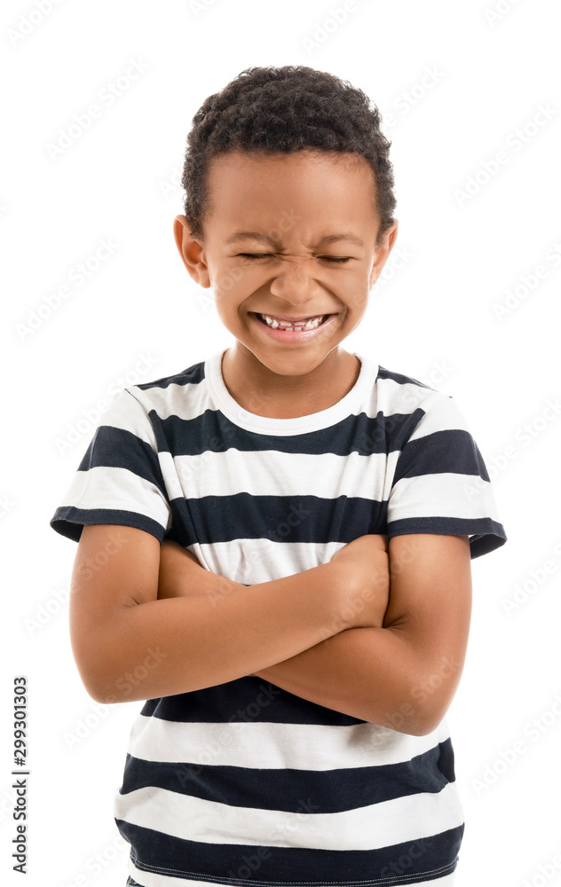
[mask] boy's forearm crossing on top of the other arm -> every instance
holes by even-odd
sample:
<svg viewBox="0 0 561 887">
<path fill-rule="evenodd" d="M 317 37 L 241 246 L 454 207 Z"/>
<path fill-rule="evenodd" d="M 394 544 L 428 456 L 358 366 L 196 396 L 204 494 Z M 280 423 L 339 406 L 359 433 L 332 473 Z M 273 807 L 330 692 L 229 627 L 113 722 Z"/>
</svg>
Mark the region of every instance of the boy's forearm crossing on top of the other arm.
<svg viewBox="0 0 561 887">
<path fill-rule="evenodd" d="M 333 564 L 259 585 L 233 583 L 231 593 L 212 593 L 208 580 L 201 577 L 206 593 L 123 607 L 96 626 L 89 656 L 99 673 L 91 695 L 122 702 L 214 687 L 346 627 L 338 612 L 344 578 Z"/>
</svg>

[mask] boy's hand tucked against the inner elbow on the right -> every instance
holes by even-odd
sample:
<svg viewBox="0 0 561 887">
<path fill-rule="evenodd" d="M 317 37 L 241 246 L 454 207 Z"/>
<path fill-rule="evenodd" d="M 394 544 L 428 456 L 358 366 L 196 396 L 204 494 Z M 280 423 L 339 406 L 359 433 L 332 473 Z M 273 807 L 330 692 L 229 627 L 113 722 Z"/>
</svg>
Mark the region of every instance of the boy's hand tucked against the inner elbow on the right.
<svg viewBox="0 0 561 887">
<path fill-rule="evenodd" d="M 352 539 L 331 558 L 344 569 L 349 628 L 382 628 L 390 600 L 388 538 L 368 534 Z M 346 612 L 345 612 L 346 616 Z"/>
</svg>

